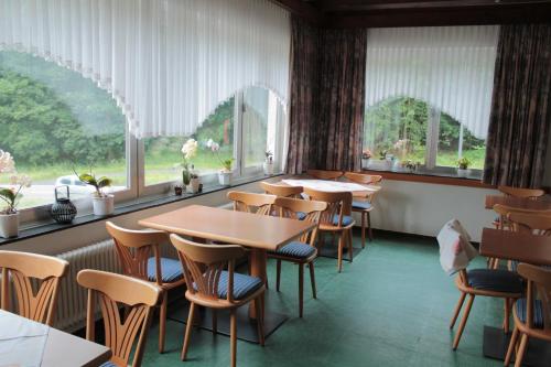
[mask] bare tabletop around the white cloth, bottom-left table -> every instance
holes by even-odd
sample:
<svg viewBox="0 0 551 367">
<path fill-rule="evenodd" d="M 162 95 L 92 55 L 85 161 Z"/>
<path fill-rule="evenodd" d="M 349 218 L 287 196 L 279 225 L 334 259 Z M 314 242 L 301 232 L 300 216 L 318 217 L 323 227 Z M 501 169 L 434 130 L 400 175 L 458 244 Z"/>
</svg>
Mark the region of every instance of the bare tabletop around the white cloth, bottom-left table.
<svg viewBox="0 0 551 367">
<path fill-rule="evenodd" d="M 21 325 L 21 323 L 34 323 L 2 310 L 0 310 L 0 317 L 2 319 L 2 325 L 13 324 L 15 326 Z M 42 353 L 41 367 L 96 367 L 108 361 L 111 357 L 111 350 L 108 347 L 53 327 L 47 327 L 47 334 L 44 337 L 46 337 L 46 341 Z M 0 341 L 1 343 L 2 341 Z M 1 365 L 3 365 L 2 355 L 0 355 Z"/>
</svg>

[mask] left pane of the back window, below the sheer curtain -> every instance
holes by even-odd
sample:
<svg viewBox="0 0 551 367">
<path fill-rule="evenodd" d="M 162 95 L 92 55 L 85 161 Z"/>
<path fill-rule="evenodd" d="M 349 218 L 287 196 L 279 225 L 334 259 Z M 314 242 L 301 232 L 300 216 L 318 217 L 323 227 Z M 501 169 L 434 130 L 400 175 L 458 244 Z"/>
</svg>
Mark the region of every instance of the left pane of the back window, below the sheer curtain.
<svg viewBox="0 0 551 367">
<path fill-rule="evenodd" d="M 400 161 L 424 162 L 428 105 L 413 98 L 383 100 L 366 111 L 364 151 L 371 159 L 392 155 Z"/>
</svg>

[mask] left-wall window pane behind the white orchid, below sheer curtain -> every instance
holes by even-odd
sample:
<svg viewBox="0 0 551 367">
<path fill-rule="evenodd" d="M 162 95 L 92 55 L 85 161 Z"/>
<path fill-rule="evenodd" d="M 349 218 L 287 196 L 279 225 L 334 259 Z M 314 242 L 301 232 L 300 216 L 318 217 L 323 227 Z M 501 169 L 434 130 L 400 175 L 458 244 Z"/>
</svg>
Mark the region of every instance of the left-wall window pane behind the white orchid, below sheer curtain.
<svg viewBox="0 0 551 367">
<path fill-rule="evenodd" d="M 213 174 L 222 169 L 220 160 L 234 156 L 235 98 L 220 104 L 190 137 L 144 139 L 145 185 L 182 180 L 182 145 L 193 138 L 198 142 L 197 155 L 191 160 L 199 175 Z M 213 139 L 220 145 L 218 156 L 207 148 Z"/>
</svg>

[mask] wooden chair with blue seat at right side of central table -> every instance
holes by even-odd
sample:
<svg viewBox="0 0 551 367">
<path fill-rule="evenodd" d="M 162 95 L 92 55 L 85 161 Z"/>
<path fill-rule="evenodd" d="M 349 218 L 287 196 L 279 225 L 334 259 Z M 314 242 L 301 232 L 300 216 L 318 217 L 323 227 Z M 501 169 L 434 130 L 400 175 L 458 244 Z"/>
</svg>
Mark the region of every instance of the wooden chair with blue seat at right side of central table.
<svg viewBox="0 0 551 367">
<path fill-rule="evenodd" d="M 322 212 L 327 208 L 323 202 L 303 201 L 299 198 L 278 197 L 276 206 L 280 208 L 280 216 L 287 218 L 307 220 L 315 224 L 320 223 Z M 312 284 L 312 296 L 316 298 L 314 259 L 317 257 L 315 240 L 317 227 L 302 235 L 298 241 L 290 242 L 276 252 L 269 252 L 268 257 L 277 260 L 277 285 L 279 292 L 281 278 L 281 261 L 290 261 L 299 266 L 299 316 L 303 314 L 304 299 L 304 266 L 310 268 L 310 282 Z"/>
</svg>

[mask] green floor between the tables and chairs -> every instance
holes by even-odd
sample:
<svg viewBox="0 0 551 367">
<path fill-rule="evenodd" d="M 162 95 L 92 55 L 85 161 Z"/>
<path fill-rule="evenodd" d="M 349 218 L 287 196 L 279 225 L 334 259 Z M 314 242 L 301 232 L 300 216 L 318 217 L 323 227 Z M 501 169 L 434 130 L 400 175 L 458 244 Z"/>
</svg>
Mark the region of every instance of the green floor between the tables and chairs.
<svg viewBox="0 0 551 367">
<path fill-rule="evenodd" d="M 355 247 L 360 247 L 358 236 Z M 328 246 L 328 245 L 327 245 Z M 484 267 L 478 258 L 472 268 Z M 435 240 L 376 234 L 342 273 L 336 260 L 315 262 L 317 299 L 305 271 L 304 317 L 298 317 L 298 268 L 283 263 L 281 292 L 269 263 L 268 311 L 290 319 L 264 347 L 238 341 L 239 366 L 501 366 L 484 358 L 484 325 L 501 323 L 503 303 L 477 298 L 456 352 L 450 317 L 458 299 L 439 263 Z M 194 330 L 188 360 L 180 360 L 185 325 L 168 321 L 166 352 L 158 353 L 158 325 L 149 334 L 143 366 L 229 366 L 229 338 Z"/>
</svg>

